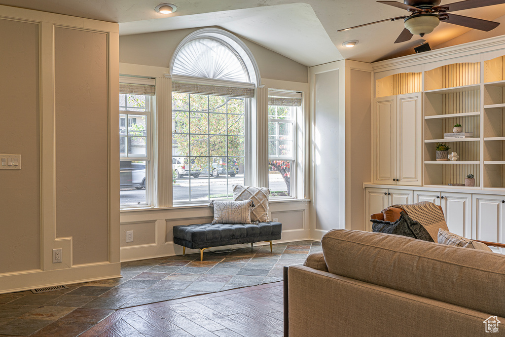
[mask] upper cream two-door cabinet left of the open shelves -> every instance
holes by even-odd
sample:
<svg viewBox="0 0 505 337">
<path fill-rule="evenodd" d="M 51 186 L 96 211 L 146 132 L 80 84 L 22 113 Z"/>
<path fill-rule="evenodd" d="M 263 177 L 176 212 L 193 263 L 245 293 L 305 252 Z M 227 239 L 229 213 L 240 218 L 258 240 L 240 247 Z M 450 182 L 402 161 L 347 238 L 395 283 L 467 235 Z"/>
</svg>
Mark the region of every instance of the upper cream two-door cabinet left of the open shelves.
<svg viewBox="0 0 505 337">
<path fill-rule="evenodd" d="M 375 99 L 374 182 L 421 185 L 421 93 Z"/>
</svg>

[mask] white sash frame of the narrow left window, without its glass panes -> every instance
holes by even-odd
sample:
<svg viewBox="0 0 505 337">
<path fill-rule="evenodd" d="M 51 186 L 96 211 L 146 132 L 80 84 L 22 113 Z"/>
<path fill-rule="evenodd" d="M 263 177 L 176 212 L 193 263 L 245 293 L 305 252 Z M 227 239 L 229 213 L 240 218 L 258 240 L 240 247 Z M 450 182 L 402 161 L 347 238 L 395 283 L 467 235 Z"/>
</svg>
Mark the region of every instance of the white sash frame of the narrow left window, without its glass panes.
<svg viewBox="0 0 505 337">
<path fill-rule="evenodd" d="M 125 94 L 120 92 L 120 95 Z M 128 95 L 128 93 L 126 93 Z M 119 98 L 118 98 L 119 99 Z M 145 207 L 154 207 L 154 201 L 156 200 L 154 196 L 154 155 L 153 155 L 153 129 L 154 125 L 152 124 L 154 118 L 153 116 L 153 97 L 150 95 L 145 95 L 145 111 L 133 111 L 133 110 L 121 110 L 123 107 L 120 107 L 119 116 L 126 115 L 125 119 L 125 127 L 128 128 L 130 125 L 128 115 L 142 115 L 145 116 L 145 156 L 140 157 L 129 157 L 128 149 L 125 149 L 126 156 L 120 154 L 120 161 L 130 162 L 130 161 L 144 161 L 145 162 L 145 204 L 130 204 L 130 205 L 120 205 L 121 209 L 129 209 L 129 208 L 145 208 Z M 120 123 L 121 127 L 121 123 Z M 119 130 L 118 130 L 119 131 Z M 128 145 L 128 135 L 126 135 L 126 144 Z"/>
</svg>

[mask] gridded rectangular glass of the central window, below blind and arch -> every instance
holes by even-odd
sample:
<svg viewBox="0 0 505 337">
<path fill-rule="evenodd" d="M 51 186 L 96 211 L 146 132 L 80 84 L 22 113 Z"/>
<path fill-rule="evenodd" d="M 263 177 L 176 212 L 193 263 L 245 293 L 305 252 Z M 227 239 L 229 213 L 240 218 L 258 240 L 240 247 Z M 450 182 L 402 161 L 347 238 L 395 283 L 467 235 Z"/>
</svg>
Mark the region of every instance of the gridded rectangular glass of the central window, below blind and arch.
<svg viewBox="0 0 505 337">
<path fill-rule="evenodd" d="M 173 92 L 173 200 L 231 199 L 244 183 L 248 99 Z"/>
</svg>

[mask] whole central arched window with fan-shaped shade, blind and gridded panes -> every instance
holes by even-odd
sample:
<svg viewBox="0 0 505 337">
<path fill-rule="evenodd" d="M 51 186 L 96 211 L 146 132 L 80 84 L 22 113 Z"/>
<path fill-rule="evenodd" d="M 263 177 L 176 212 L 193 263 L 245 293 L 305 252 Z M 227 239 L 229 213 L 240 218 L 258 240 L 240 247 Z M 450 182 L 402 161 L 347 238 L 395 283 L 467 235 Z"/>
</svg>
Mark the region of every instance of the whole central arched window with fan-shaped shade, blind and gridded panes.
<svg viewBox="0 0 505 337">
<path fill-rule="evenodd" d="M 171 75 L 173 201 L 232 199 L 248 181 L 258 66 L 234 35 L 201 29 L 179 44 Z"/>
</svg>

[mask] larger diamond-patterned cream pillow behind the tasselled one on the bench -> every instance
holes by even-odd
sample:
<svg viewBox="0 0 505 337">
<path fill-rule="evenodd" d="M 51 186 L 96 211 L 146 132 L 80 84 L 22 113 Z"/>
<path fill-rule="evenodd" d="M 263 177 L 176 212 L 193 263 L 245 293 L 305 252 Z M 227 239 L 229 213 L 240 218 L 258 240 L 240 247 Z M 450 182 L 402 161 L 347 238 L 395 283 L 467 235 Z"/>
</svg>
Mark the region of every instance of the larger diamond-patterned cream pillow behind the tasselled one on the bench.
<svg viewBox="0 0 505 337">
<path fill-rule="evenodd" d="M 233 185 L 233 200 L 252 200 L 254 207 L 251 209 L 252 222 L 268 222 L 268 197 L 270 196 L 270 189 L 267 187 L 254 187 Z"/>
</svg>

